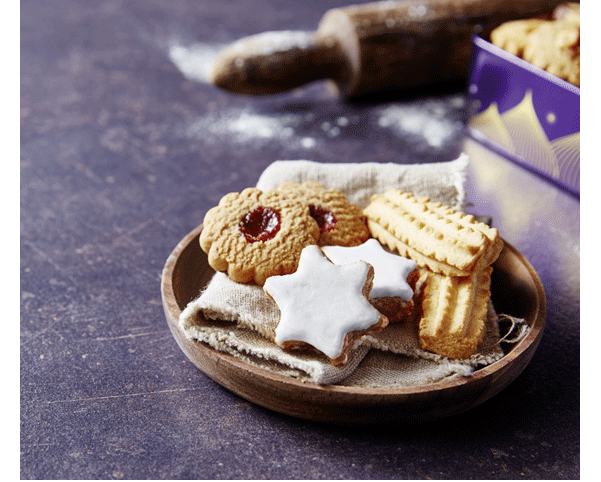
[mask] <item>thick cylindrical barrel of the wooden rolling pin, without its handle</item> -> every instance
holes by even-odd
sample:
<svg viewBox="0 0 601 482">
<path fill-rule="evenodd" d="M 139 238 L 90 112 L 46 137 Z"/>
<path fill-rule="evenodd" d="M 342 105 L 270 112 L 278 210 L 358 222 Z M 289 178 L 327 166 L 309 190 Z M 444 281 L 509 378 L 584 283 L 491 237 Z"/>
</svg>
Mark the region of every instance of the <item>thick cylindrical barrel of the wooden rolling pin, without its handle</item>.
<svg viewBox="0 0 601 482">
<path fill-rule="evenodd" d="M 475 33 L 549 12 L 562 0 L 406 0 L 327 11 L 318 32 L 337 39 L 350 75 L 343 96 L 464 79 Z"/>
</svg>

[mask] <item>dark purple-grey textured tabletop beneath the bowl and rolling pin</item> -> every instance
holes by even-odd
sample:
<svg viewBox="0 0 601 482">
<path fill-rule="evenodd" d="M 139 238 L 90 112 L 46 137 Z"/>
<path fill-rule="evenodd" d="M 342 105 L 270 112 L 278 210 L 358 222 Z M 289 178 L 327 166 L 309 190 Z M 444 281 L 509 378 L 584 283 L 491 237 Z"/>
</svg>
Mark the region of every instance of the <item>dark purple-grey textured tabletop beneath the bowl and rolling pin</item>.
<svg viewBox="0 0 601 482">
<path fill-rule="evenodd" d="M 21 3 L 22 478 L 579 477 L 579 202 L 464 141 L 460 91 L 351 103 L 323 83 L 247 98 L 205 81 L 226 43 L 313 30 L 343 3 Z M 241 400 L 178 349 L 161 270 L 223 194 L 277 159 L 462 149 L 472 212 L 547 292 L 540 347 L 502 393 L 419 426 L 315 424 Z"/>
</svg>

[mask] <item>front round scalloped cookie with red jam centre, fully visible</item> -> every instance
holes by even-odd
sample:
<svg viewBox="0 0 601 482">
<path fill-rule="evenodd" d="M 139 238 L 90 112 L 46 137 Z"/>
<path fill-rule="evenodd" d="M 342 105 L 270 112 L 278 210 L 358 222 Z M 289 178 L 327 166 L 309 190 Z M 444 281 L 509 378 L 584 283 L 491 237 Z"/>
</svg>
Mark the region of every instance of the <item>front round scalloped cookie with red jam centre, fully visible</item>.
<svg viewBox="0 0 601 482">
<path fill-rule="evenodd" d="M 293 273 L 319 226 L 304 203 L 275 190 L 247 188 L 226 194 L 204 217 L 200 246 L 209 265 L 239 283 L 263 285 Z"/>
</svg>

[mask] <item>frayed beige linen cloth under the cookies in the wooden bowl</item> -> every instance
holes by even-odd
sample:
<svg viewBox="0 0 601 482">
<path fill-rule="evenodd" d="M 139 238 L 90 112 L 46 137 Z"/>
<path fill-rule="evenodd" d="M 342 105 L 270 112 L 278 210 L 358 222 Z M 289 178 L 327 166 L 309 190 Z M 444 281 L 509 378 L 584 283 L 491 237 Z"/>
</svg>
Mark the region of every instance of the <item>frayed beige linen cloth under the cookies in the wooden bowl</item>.
<svg viewBox="0 0 601 482">
<path fill-rule="evenodd" d="M 261 175 L 257 187 L 276 188 L 285 181 L 317 181 L 343 191 L 350 202 L 364 207 L 372 194 L 389 187 L 430 196 L 455 209 L 465 205 L 468 159 L 438 164 L 320 164 L 277 161 Z M 478 354 L 450 360 L 422 350 L 415 324 L 389 325 L 363 339 L 351 360 L 335 367 L 317 352 L 284 351 L 273 339 L 280 312 L 263 289 L 231 281 L 216 273 L 200 296 L 180 316 L 186 336 L 205 342 L 244 361 L 318 384 L 362 387 L 402 387 L 469 375 L 475 368 L 503 356 L 497 315 L 489 305 L 487 333 Z M 521 337 L 520 337 L 521 338 Z"/>
</svg>

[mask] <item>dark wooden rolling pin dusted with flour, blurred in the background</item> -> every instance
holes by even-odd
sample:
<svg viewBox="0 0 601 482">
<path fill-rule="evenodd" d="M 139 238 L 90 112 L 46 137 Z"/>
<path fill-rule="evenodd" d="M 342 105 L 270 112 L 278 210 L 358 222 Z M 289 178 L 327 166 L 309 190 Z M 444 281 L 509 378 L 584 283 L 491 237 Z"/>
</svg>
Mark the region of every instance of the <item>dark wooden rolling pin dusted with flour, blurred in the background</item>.
<svg viewBox="0 0 601 482">
<path fill-rule="evenodd" d="M 281 31 L 234 42 L 210 82 L 268 95 L 328 79 L 352 97 L 465 78 L 471 39 L 509 20 L 552 12 L 562 0 L 397 0 L 328 10 L 315 32 Z"/>
</svg>

